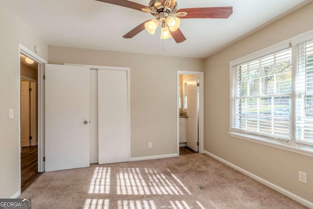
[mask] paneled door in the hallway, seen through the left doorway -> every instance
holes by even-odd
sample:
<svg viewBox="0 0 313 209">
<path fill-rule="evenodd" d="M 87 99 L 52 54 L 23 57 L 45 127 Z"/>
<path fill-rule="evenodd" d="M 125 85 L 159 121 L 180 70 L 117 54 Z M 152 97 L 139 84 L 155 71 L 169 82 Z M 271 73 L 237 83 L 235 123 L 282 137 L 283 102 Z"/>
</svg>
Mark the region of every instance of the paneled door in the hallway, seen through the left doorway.
<svg viewBox="0 0 313 209">
<path fill-rule="evenodd" d="M 29 81 L 21 83 L 21 146 L 29 146 Z"/>
</svg>

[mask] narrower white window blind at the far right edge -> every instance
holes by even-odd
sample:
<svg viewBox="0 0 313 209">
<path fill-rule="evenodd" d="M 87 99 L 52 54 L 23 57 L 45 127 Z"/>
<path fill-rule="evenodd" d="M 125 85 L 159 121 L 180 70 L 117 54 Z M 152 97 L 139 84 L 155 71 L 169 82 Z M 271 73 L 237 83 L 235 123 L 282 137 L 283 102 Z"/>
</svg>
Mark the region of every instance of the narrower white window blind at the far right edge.
<svg viewBox="0 0 313 209">
<path fill-rule="evenodd" d="M 297 45 L 295 134 L 297 143 L 313 145 L 313 40 Z"/>
</svg>

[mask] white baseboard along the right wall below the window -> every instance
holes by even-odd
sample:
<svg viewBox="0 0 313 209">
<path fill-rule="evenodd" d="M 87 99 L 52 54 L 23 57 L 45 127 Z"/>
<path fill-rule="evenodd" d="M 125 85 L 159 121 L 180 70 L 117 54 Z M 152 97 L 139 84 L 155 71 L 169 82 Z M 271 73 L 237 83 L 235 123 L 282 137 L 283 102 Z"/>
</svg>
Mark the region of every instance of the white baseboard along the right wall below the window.
<svg viewBox="0 0 313 209">
<path fill-rule="evenodd" d="M 262 179 L 261 177 L 255 175 L 253 173 L 250 173 L 249 171 L 247 171 L 247 170 L 245 170 L 245 169 L 243 169 L 237 165 L 229 163 L 228 161 L 225 161 L 224 159 L 222 159 L 222 158 L 220 158 L 220 157 L 218 157 L 218 156 L 216 156 L 216 155 L 214 155 L 208 151 L 203 151 L 203 153 L 208 155 L 208 156 L 211 156 L 212 158 L 214 158 L 214 159 L 216 159 L 216 160 L 218 160 L 218 161 L 220 161 L 220 162 L 222 162 L 222 163 L 224 163 L 224 164 L 226 164 L 232 168 L 234 168 L 235 170 L 238 170 L 239 172 L 247 175 L 248 177 L 274 189 L 275 191 L 278 191 L 279 193 L 282 193 L 282 194 L 286 195 L 287 197 L 290 197 L 292 200 L 297 201 L 297 202 L 301 203 L 302 205 L 313 209 L 313 203 L 312 202 L 310 202 L 306 199 L 303 199 L 302 197 L 299 197 L 299 196 L 291 193 L 290 191 L 288 191 L 288 190 L 286 190 L 280 186 L 274 185 L 273 183 L 270 183 L 267 180 Z"/>
</svg>

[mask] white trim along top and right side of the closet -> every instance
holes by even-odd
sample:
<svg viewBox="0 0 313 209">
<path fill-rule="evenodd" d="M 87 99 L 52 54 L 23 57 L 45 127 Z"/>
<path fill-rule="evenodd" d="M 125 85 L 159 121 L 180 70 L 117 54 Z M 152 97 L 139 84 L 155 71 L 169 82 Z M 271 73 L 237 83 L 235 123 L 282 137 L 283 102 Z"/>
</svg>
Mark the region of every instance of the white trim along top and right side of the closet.
<svg viewBox="0 0 313 209">
<path fill-rule="evenodd" d="M 80 65 L 80 64 L 67 64 L 71 66 L 88 67 L 89 69 L 96 70 L 125 70 L 127 76 L 127 146 L 128 146 L 128 161 L 131 161 L 131 68 L 126 67 L 112 67 L 112 66 L 99 66 L 99 65 Z"/>
</svg>

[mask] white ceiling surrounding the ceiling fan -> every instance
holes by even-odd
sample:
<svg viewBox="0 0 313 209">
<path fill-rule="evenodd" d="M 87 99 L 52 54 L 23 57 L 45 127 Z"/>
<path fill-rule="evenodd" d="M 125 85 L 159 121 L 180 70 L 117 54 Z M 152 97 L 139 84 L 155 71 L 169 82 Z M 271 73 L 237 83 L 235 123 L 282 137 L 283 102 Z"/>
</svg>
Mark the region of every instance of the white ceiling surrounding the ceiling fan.
<svg viewBox="0 0 313 209">
<path fill-rule="evenodd" d="M 132 0 L 148 5 L 149 0 Z M 182 19 L 187 40 L 160 39 L 145 30 L 122 38 L 154 17 L 96 0 L 0 0 L 49 45 L 206 58 L 250 31 L 312 0 L 177 0 L 178 8 L 233 6 L 228 19 Z M 277 31 L 279 32 L 279 31 Z"/>
</svg>

